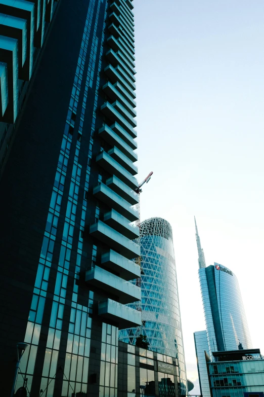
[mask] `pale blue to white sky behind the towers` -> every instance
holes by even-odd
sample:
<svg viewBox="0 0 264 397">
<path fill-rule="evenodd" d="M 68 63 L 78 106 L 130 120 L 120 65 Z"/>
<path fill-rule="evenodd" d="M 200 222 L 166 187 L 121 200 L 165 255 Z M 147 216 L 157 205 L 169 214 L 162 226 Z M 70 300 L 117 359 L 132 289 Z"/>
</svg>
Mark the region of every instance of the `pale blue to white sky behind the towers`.
<svg viewBox="0 0 264 397">
<path fill-rule="evenodd" d="M 134 0 L 141 218 L 171 223 L 187 373 L 204 329 L 193 216 L 207 265 L 237 275 L 264 353 L 264 2 Z M 259 311 L 260 310 L 260 311 Z M 197 388 L 192 392 L 198 392 Z"/>
</svg>

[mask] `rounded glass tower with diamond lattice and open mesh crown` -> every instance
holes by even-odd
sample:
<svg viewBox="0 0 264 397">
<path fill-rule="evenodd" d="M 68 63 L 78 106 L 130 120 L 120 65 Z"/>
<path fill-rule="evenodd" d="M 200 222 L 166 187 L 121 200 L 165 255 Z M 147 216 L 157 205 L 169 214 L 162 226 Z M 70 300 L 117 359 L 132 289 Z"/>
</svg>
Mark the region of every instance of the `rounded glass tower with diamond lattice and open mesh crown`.
<svg viewBox="0 0 264 397">
<path fill-rule="evenodd" d="M 177 357 L 182 394 L 187 394 L 187 378 L 182 336 L 172 229 L 161 218 L 141 224 L 142 334 L 150 350 Z M 135 344 L 136 328 L 119 332 L 119 338 Z"/>
</svg>

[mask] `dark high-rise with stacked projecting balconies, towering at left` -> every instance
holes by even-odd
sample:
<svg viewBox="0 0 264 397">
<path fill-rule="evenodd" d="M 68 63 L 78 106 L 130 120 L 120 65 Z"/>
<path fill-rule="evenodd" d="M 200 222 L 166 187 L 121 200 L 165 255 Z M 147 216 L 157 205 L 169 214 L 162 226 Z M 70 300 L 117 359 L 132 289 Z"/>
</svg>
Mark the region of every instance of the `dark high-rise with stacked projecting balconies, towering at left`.
<svg viewBox="0 0 264 397">
<path fill-rule="evenodd" d="M 0 14 L 1 393 L 25 341 L 16 390 L 115 397 L 118 328 L 141 324 L 133 1 Z"/>
</svg>

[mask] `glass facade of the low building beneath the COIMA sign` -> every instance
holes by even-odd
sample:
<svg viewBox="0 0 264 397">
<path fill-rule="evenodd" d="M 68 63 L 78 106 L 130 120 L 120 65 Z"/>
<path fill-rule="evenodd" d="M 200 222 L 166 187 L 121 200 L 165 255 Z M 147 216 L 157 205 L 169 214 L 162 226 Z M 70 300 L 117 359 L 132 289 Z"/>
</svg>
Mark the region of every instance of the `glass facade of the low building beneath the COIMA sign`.
<svg viewBox="0 0 264 397">
<path fill-rule="evenodd" d="M 244 397 L 244 393 L 264 392 L 264 360 L 209 363 L 212 397 Z"/>
</svg>

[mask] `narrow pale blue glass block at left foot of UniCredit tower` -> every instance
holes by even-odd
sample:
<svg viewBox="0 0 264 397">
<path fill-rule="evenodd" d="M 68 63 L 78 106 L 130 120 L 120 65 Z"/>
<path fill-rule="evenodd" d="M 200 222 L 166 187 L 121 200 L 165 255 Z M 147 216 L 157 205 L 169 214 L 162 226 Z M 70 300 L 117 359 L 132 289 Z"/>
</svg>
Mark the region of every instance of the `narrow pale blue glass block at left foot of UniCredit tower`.
<svg viewBox="0 0 264 397">
<path fill-rule="evenodd" d="M 200 392 L 203 397 L 210 397 L 210 387 L 206 367 L 205 351 L 209 355 L 209 347 L 206 331 L 194 333 L 194 344 L 197 359 L 198 376 L 200 383 Z"/>
</svg>

